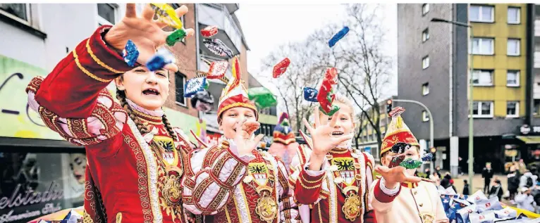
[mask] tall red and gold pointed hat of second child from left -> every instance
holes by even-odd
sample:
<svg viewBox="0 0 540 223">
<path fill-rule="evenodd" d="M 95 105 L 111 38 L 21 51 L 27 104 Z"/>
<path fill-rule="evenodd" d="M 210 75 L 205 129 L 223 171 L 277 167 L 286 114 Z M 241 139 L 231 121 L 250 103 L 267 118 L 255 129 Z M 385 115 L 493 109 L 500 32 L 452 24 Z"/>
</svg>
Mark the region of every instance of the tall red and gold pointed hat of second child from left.
<svg viewBox="0 0 540 223">
<path fill-rule="evenodd" d="M 244 87 L 242 78 L 242 71 L 240 69 L 240 62 L 238 57 L 233 58 L 233 77 L 228 81 L 227 86 L 221 91 L 221 97 L 219 98 L 218 106 L 218 122 L 221 123 L 221 114 L 228 109 L 243 107 L 251 108 L 255 112 L 255 118 L 259 120 L 259 113 L 257 113 L 257 107 L 250 101 L 247 96 L 247 89 Z"/>
</svg>

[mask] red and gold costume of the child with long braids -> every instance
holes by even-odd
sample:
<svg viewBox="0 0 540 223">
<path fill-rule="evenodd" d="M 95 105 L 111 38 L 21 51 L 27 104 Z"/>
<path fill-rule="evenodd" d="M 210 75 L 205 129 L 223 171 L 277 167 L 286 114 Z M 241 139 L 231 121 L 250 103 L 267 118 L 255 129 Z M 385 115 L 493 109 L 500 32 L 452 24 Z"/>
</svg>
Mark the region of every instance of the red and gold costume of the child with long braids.
<svg viewBox="0 0 540 223">
<path fill-rule="evenodd" d="M 106 90 L 132 69 L 106 46 L 110 28 L 99 27 L 46 78 L 32 79 L 28 103 L 47 127 L 86 148 L 84 222 L 185 222 L 180 178 L 189 142 L 180 129 L 173 140 L 163 110 L 127 101 L 149 129 L 141 134 Z"/>
</svg>

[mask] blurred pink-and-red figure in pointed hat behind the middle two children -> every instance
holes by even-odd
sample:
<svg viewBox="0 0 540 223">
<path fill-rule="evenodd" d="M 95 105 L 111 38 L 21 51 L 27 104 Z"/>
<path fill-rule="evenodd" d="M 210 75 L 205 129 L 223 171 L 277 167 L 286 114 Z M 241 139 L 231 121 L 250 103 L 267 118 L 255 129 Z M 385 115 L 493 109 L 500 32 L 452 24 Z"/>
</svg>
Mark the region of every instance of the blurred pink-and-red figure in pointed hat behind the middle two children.
<svg viewBox="0 0 540 223">
<path fill-rule="evenodd" d="M 289 115 L 287 113 L 282 113 L 279 117 L 273 135 L 274 142 L 270 145 L 268 152 L 281 158 L 287 167 L 287 171 L 290 172 L 290 163 L 293 161 L 299 144 L 296 142 L 293 128 L 289 125 Z"/>
</svg>

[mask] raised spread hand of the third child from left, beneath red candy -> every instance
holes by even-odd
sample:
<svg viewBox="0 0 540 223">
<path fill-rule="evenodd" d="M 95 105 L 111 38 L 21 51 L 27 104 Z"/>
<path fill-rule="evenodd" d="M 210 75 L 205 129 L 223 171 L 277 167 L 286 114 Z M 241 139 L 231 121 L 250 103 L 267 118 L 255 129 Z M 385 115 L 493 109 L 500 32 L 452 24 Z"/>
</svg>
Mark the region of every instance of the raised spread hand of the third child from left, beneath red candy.
<svg viewBox="0 0 540 223">
<path fill-rule="evenodd" d="M 336 125 L 336 122 L 338 121 L 338 115 L 333 115 L 332 120 L 329 123 L 326 123 L 326 125 L 321 125 L 321 121 L 319 118 L 319 110 L 317 108 L 314 109 L 314 116 L 315 116 L 315 127 L 312 127 L 309 125 L 309 122 L 304 118 L 304 125 L 307 127 L 307 131 L 312 136 L 313 141 L 313 155 L 319 155 L 324 156 L 326 153 L 331 151 L 332 148 L 335 148 L 339 144 L 341 144 L 343 141 L 347 141 L 349 139 L 352 139 L 351 135 L 345 135 L 345 136 L 339 136 L 334 137 L 332 136 L 333 132 L 333 126 Z"/>
</svg>

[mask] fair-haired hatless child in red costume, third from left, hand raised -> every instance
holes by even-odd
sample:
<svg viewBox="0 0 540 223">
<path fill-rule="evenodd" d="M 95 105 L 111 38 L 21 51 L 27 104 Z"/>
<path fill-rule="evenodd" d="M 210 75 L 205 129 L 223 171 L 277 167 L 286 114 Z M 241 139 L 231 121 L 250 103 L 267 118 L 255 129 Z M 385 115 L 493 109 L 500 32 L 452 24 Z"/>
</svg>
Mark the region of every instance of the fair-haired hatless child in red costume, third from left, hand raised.
<svg viewBox="0 0 540 223">
<path fill-rule="evenodd" d="M 315 108 L 314 127 L 304 119 L 311 139 L 291 164 L 302 222 L 376 222 L 368 200 L 373 157 L 351 147 L 356 116 L 348 98 L 336 94 L 332 106 L 340 110 L 331 117 Z"/>
</svg>

